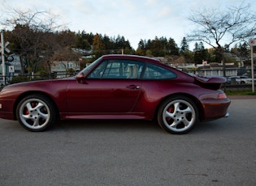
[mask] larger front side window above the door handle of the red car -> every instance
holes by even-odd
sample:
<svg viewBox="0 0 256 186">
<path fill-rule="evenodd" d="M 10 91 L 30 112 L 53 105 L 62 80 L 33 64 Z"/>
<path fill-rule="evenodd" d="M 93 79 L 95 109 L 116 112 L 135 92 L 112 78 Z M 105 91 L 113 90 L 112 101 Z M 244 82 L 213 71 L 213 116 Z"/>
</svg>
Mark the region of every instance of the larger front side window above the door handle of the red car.
<svg viewBox="0 0 256 186">
<path fill-rule="evenodd" d="M 130 60 L 107 60 L 96 67 L 88 78 L 140 78 L 144 63 Z"/>
</svg>

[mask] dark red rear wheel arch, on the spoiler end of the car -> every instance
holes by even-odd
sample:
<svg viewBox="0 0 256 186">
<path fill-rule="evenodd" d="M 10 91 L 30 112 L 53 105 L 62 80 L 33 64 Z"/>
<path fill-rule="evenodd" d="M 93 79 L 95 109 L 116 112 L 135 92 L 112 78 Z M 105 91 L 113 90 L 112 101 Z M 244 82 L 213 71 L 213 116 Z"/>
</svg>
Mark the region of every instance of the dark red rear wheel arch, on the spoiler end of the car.
<svg viewBox="0 0 256 186">
<path fill-rule="evenodd" d="M 171 94 L 171 95 L 167 95 L 166 97 L 164 97 L 158 104 L 158 107 L 156 108 L 155 110 L 155 113 L 154 113 L 154 118 L 157 118 L 158 116 L 158 109 L 160 107 L 160 105 L 166 100 L 166 99 L 169 99 L 171 97 L 174 97 L 174 96 L 184 96 L 184 97 L 187 97 L 189 99 L 191 99 L 194 104 L 197 105 L 197 111 L 198 111 L 198 120 L 202 120 L 202 114 L 203 114 L 203 108 L 202 108 L 202 104 L 201 102 L 193 95 L 189 95 L 187 93 L 175 93 L 175 94 Z"/>
</svg>

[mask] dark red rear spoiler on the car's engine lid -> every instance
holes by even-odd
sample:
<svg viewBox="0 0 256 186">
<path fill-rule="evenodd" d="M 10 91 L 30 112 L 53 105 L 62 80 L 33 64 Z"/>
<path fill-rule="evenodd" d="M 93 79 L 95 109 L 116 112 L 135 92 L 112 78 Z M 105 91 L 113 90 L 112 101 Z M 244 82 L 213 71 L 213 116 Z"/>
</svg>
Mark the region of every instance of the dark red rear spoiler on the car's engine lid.
<svg viewBox="0 0 256 186">
<path fill-rule="evenodd" d="M 218 90 L 222 83 L 227 81 L 227 78 L 221 76 L 210 76 L 210 77 L 194 77 L 195 83 L 202 87 L 207 87 L 212 90 Z"/>
</svg>

